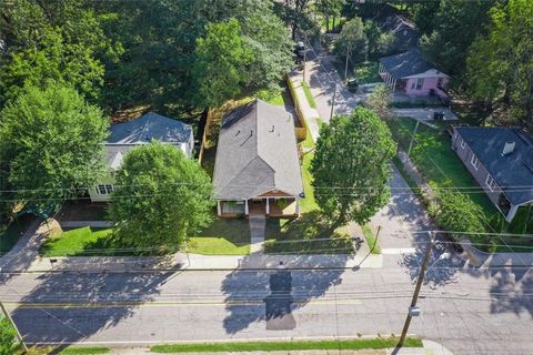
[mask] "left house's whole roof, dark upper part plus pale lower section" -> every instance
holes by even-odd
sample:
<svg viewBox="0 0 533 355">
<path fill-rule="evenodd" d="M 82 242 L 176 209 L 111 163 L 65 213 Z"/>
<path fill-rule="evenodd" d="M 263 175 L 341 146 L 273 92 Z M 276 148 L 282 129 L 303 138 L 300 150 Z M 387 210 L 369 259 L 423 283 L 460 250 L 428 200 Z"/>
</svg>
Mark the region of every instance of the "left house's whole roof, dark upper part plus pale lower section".
<svg viewBox="0 0 533 355">
<path fill-rule="evenodd" d="M 119 169 L 125 153 L 139 144 L 150 143 L 152 140 L 171 144 L 189 143 L 191 135 L 190 124 L 153 112 L 113 124 L 105 142 L 108 166 Z"/>
</svg>

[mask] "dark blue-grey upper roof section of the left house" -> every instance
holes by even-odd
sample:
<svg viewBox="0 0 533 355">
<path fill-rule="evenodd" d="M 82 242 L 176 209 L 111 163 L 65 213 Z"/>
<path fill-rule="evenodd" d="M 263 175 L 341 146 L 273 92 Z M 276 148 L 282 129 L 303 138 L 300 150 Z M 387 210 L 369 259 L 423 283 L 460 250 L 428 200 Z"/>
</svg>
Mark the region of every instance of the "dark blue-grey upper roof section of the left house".
<svg viewBox="0 0 533 355">
<path fill-rule="evenodd" d="M 149 143 L 157 140 L 164 143 L 187 143 L 192 126 L 181 121 L 149 112 L 138 119 L 111 125 L 108 143 Z"/>
</svg>

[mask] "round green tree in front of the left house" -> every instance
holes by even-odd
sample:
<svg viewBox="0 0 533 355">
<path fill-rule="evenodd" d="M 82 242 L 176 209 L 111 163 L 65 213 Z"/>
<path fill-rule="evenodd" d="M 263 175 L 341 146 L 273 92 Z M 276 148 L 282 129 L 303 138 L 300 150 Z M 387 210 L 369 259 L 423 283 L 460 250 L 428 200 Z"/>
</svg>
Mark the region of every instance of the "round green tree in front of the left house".
<svg viewBox="0 0 533 355">
<path fill-rule="evenodd" d="M 213 186 L 205 171 L 179 149 L 152 142 L 124 156 L 111 195 L 120 245 L 179 246 L 211 221 Z"/>
</svg>

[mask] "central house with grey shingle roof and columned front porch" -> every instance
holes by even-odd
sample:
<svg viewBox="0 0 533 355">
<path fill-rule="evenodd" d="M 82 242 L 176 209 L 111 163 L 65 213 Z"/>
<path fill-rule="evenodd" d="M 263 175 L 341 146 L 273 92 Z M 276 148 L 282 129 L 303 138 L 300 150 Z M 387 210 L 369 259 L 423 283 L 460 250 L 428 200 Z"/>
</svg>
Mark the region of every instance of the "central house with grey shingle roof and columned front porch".
<svg viewBox="0 0 533 355">
<path fill-rule="evenodd" d="M 219 216 L 298 216 L 303 187 L 292 115 L 261 100 L 229 112 L 213 184 Z"/>
</svg>

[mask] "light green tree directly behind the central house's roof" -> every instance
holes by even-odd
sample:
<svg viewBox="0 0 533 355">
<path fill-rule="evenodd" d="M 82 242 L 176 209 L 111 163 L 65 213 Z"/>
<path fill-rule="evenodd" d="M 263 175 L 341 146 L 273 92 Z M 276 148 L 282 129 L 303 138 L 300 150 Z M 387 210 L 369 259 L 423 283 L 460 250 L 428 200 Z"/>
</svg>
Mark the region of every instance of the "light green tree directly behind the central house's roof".
<svg viewBox="0 0 533 355">
<path fill-rule="evenodd" d="M 218 106 L 239 94 L 249 81 L 247 68 L 253 53 L 237 19 L 209 23 L 205 37 L 197 42 L 194 73 L 199 97 L 204 106 Z"/>
</svg>

